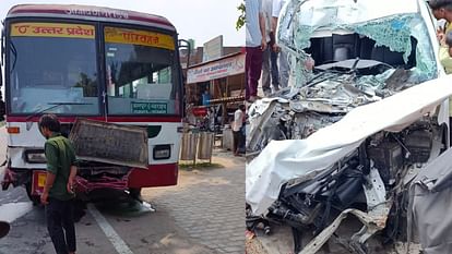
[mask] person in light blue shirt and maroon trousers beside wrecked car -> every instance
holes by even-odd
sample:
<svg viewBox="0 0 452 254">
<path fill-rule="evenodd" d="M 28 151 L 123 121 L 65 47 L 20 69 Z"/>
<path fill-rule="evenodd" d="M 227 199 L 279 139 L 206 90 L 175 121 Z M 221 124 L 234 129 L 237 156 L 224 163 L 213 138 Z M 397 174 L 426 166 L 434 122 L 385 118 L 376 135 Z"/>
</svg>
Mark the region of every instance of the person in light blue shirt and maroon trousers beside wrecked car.
<svg viewBox="0 0 452 254">
<path fill-rule="evenodd" d="M 258 84 L 262 71 L 262 52 L 266 48 L 265 19 L 261 0 L 246 1 L 246 94 L 245 98 L 253 102 L 258 99 Z"/>
</svg>

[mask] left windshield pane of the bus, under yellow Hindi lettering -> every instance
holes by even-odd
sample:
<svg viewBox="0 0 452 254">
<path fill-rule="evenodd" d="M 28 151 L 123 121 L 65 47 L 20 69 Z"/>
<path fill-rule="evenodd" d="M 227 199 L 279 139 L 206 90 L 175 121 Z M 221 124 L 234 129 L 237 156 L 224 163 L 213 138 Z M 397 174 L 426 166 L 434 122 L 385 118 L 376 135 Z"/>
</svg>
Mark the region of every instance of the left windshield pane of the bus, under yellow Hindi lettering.
<svg viewBox="0 0 452 254">
<path fill-rule="evenodd" d="M 11 24 L 11 112 L 99 114 L 95 41 L 92 25 Z"/>
</svg>

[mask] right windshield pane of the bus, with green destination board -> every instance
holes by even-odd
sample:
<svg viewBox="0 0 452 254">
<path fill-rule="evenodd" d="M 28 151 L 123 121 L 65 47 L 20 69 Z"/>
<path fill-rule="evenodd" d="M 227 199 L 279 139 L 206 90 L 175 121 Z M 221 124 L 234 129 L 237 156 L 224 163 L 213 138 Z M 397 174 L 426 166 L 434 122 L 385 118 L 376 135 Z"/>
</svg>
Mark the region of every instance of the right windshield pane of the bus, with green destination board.
<svg viewBox="0 0 452 254">
<path fill-rule="evenodd" d="M 105 27 L 109 114 L 179 114 L 177 56 L 173 36 Z"/>
</svg>

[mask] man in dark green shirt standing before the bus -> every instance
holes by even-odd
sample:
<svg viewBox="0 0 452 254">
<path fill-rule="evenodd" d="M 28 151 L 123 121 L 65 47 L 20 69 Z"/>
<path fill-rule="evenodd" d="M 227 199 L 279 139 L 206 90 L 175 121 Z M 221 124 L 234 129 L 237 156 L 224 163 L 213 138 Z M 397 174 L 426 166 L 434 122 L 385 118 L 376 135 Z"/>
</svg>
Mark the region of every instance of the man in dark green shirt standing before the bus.
<svg viewBox="0 0 452 254">
<path fill-rule="evenodd" d="M 47 177 L 40 196 L 46 206 L 47 229 L 57 254 L 75 254 L 75 150 L 71 142 L 60 134 L 60 122 L 55 114 L 44 114 L 39 119 L 39 131 L 47 140 L 44 146 Z"/>
</svg>

